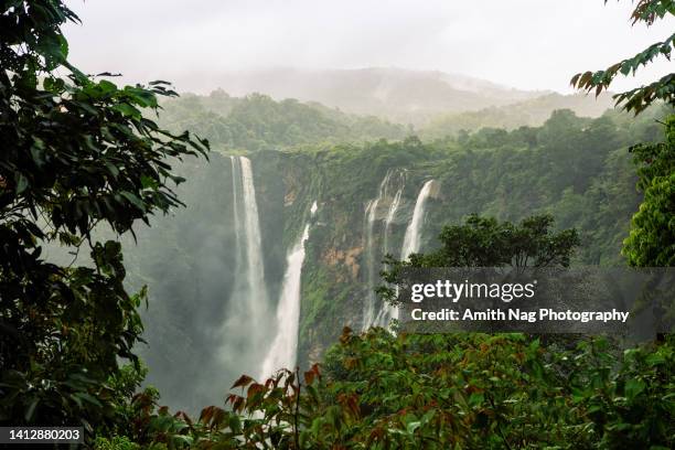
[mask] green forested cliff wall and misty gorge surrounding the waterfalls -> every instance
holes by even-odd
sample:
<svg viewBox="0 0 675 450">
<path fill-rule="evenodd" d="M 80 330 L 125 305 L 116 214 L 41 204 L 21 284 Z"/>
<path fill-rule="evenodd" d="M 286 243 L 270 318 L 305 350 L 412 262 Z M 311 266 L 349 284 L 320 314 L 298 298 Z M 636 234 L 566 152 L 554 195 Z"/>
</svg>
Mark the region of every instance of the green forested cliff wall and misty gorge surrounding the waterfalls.
<svg viewBox="0 0 675 450">
<path fill-rule="evenodd" d="M 323 120 L 313 114 L 317 117 L 304 120 Z M 286 251 L 317 201 L 302 268 L 301 365 L 319 361 L 342 325 L 361 329 L 364 302 L 376 282 L 368 280 L 368 274 L 377 274 L 385 249 L 399 256 L 416 197 L 427 180 L 436 180 L 437 188 L 427 204 L 420 250 L 437 245 L 442 225 L 460 223 L 472 213 L 508 221 L 549 213 L 558 228 L 576 227 L 580 233 L 574 264 L 623 265 L 621 243 L 641 199 L 628 148 L 662 140 L 655 119 L 665 114 L 665 107 L 655 107 L 638 120 L 621 113 L 590 119 L 559 110 L 542 127 L 483 129 L 435 142 L 408 137 L 248 152 L 269 315 L 280 297 Z M 270 140 L 277 138 L 270 135 Z M 234 172 L 226 152 L 214 152 L 205 165 L 184 167 L 189 182 L 180 194 L 188 208 L 139 229 L 138 246 L 126 247 L 135 286 L 151 287 L 151 313 L 144 315 L 149 347 L 140 347 L 154 368 L 148 379 L 165 393 L 167 401 L 183 407 L 202 405 L 240 372 L 255 373 L 256 361 L 264 356 L 253 349 L 244 352 L 244 342 L 222 338 L 239 330 L 223 328 L 228 317 L 236 315 L 232 304 L 235 261 L 227 250 L 235 243 Z M 387 174 L 388 192 L 378 194 Z M 398 210 L 387 222 L 399 190 Z M 368 202 L 378 196 L 368 225 Z M 219 354 L 242 356 L 225 364 L 199 351 L 214 347 Z M 191 377 L 200 381 L 194 384 L 196 390 L 179 388 L 184 374 L 171 375 L 175 364 L 191 367 Z M 218 381 L 214 373 L 219 374 Z"/>
</svg>

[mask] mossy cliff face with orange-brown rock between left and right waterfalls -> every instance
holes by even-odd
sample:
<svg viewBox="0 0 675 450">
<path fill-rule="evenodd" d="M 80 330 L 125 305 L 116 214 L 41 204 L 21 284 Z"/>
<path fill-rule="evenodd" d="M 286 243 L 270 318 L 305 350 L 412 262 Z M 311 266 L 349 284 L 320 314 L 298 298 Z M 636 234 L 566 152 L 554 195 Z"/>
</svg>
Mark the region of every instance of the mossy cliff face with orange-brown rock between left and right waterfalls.
<svg viewBox="0 0 675 450">
<path fill-rule="evenodd" d="M 364 302 L 369 290 L 378 283 L 375 280 L 368 285 L 368 271 L 378 278 L 385 240 L 389 251 L 399 255 L 416 197 L 429 178 L 417 168 L 397 167 L 387 158 L 379 164 L 373 163 L 367 153 L 356 154 L 351 161 L 336 160 L 329 153 L 260 152 L 250 156 L 257 182 L 279 180 L 275 189 L 261 186 L 258 190 L 259 202 L 262 205 L 278 202 L 283 207 L 281 211 L 275 208 L 274 213 L 261 211 L 260 221 L 261 227 L 272 234 L 275 228 L 282 228 L 286 245 L 297 239 L 311 203 L 318 201 L 302 269 L 298 349 L 302 365 L 318 361 L 344 325 L 355 330 L 362 328 Z M 406 169 L 405 184 L 390 183 L 388 192 L 381 195 L 373 217 L 373 238 L 368 242 L 364 233 L 368 202 L 378 196 L 378 188 L 387 173 L 403 169 Z M 440 204 L 441 184 L 433 185 L 430 204 Z M 401 192 L 396 199 L 398 190 Z M 387 223 L 395 200 L 398 207 Z M 269 240 L 275 246 L 277 239 Z M 270 258 L 266 264 L 275 265 L 276 260 Z M 375 309 L 381 308 L 376 299 Z"/>
</svg>

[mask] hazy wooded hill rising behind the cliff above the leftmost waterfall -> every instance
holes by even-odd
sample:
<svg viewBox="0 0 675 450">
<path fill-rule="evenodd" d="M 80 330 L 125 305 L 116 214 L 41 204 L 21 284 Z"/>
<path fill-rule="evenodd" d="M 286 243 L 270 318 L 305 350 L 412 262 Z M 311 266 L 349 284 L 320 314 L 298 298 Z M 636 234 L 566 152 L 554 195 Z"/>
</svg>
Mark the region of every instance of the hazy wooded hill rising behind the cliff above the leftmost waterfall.
<svg viewBox="0 0 675 450">
<path fill-rule="evenodd" d="M 376 117 L 343 114 L 294 99 L 275 101 L 253 94 L 231 97 L 223 90 L 208 96 L 184 95 L 163 104 L 162 124 L 191 129 L 216 149 L 279 150 L 306 143 L 401 139 L 408 128 Z"/>
</svg>

